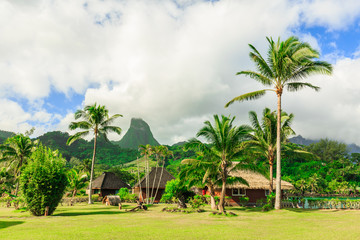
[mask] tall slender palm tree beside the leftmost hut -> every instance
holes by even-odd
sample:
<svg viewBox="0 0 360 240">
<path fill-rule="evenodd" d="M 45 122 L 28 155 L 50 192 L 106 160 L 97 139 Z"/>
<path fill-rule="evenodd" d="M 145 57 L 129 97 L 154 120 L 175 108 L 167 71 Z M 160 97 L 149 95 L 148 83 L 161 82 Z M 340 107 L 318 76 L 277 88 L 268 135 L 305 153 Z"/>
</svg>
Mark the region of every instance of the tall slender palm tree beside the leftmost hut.
<svg viewBox="0 0 360 240">
<path fill-rule="evenodd" d="M 93 105 L 85 106 L 83 110 L 77 110 L 75 112 L 75 119 L 81 119 L 79 122 L 71 122 L 69 125 L 70 130 L 81 129 L 81 132 L 75 133 L 70 136 L 66 144 L 71 145 L 76 140 L 83 138 L 89 133 L 94 134 L 94 150 L 93 157 L 91 161 L 91 173 L 90 173 L 90 184 L 89 184 L 89 204 L 92 204 L 91 195 L 92 195 L 92 182 L 94 177 L 94 164 L 96 156 L 96 140 L 99 135 L 103 136 L 105 140 L 108 141 L 107 134 L 109 132 L 115 132 L 121 134 L 121 128 L 116 126 L 111 126 L 116 118 L 122 117 L 120 114 L 115 114 L 109 117 L 109 111 L 105 106 Z"/>
</svg>

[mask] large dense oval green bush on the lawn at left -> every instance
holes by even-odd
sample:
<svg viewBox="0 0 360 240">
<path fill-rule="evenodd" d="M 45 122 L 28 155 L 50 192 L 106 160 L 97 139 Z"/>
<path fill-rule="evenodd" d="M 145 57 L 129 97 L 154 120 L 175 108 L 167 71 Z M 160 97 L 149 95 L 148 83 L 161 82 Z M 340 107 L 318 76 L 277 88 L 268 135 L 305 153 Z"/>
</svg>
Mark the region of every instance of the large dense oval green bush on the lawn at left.
<svg viewBox="0 0 360 240">
<path fill-rule="evenodd" d="M 50 149 L 39 146 L 21 174 L 21 190 L 25 203 L 35 216 L 51 215 L 61 201 L 68 185 L 65 160 Z"/>
</svg>

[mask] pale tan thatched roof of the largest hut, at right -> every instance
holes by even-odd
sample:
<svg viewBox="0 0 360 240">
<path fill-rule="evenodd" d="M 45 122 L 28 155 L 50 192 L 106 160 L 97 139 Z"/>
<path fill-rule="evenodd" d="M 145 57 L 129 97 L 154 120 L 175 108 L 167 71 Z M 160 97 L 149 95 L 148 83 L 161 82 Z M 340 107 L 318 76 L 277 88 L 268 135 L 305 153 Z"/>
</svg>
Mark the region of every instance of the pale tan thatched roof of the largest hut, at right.
<svg viewBox="0 0 360 240">
<path fill-rule="evenodd" d="M 244 184 L 240 183 L 234 183 L 234 184 L 227 184 L 227 188 L 244 188 L 244 189 L 269 189 L 269 179 L 261 175 L 260 173 L 250 172 L 250 171 L 244 171 L 244 170 L 234 170 L 230 174 L 232 177 L 242 177 L 244 178 L 248 183 L 249 186 L 246 186 Z M 275 178 L 274 178 L 274 189 L 276 189 L 275 186 Z M 282 190 L 290 190 L 294 189 L 294 186 L 286 181 L 281 180 L 281 189 Z"/>
</svg>

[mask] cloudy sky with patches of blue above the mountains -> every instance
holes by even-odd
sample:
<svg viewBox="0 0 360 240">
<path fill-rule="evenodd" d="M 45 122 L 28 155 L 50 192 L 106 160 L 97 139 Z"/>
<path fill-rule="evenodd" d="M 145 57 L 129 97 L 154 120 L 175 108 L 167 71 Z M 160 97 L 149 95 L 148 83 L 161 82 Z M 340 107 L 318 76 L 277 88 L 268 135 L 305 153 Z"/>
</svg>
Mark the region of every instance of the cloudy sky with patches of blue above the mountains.
<svg viewBox="0 0 360 240">
<path fill-rule="evenodd" d="M 254 45 L 295 35 L 333 65 L 307 79 L 320 92 L 284 92 L 293 129 L 310 139 L 360 145 L 360 1 L 358 0 L 2 0 L 0 129 L 34 137 L 68 131 L 74 112 L 105 105 L 127 131 L 144 119 L 161 144 L 195 137 L 214 114 L 249 124 L 249 111 L 276 109 L 275 94 L 229 108 L 262 86 Z"/>
</svg>

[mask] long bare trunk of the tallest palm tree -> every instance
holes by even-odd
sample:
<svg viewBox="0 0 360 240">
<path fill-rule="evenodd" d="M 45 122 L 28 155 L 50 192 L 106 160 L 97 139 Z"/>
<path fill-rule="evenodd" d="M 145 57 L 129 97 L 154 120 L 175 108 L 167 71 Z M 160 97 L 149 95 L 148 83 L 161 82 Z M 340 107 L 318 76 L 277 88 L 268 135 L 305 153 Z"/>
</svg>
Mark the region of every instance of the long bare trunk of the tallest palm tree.
<svg viewBox="0 0 360 240">
<path fill-rule="evenodd" d="M 281 208 L 281 91 L 277 91 L 277 131 L 276 131 L 276 196 L 275 209 Z"/>
</svg>

